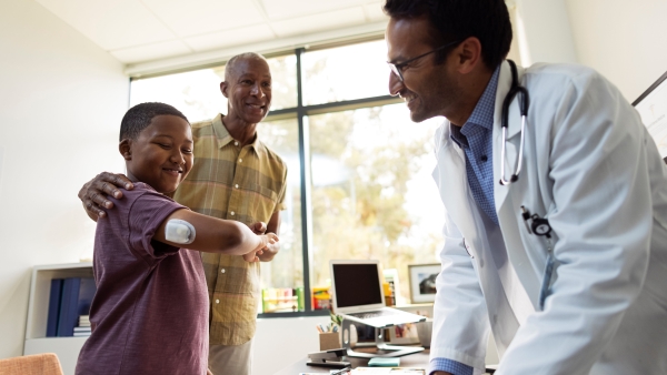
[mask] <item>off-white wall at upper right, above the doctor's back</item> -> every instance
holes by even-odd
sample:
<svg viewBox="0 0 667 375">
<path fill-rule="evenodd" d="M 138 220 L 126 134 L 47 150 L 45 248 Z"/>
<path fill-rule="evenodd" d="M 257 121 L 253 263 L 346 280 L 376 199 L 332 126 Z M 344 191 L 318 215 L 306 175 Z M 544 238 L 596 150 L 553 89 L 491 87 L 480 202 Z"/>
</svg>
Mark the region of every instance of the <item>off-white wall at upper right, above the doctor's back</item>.
<svg viewBox="0 0 667 375">
<path fill-rule="evenodd" d="M 516 0 L 521 63 L 577 62 L 637 99 L 667 71 L 665 0 Z"/>
</svg>

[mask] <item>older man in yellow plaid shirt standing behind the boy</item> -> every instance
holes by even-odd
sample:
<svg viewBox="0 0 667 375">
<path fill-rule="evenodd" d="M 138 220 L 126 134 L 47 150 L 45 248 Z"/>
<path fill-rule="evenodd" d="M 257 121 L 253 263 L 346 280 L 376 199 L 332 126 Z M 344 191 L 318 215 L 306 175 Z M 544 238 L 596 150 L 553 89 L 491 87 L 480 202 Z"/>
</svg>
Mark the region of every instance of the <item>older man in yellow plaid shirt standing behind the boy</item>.
<svg viewBox="0 0 667 375">
<path fill-rule="evenodd" d="M 257 53 L 231 58 L 220 90 L 228 99 L 227 114 L 192 124 L 195 165 L 173 197 L 196 212 L 278 233 L 287 165 L 257 134 L 271 105 L 266 59 Z M 89 216 L 104 216 L 103 210 L 112 207 L 104 196 L 122 196 L 117 186 L 132 188 L 125 175 L 102 173 L 81 189 Z M 271 245 L 259 259 L 270 262 L 278 251 L 278 244 Z M 259 264 L 219 254 L 205 254 L 202 262 L 211 302 L 209 367 L 213 374 L 250 374 Z"/>
</svg>

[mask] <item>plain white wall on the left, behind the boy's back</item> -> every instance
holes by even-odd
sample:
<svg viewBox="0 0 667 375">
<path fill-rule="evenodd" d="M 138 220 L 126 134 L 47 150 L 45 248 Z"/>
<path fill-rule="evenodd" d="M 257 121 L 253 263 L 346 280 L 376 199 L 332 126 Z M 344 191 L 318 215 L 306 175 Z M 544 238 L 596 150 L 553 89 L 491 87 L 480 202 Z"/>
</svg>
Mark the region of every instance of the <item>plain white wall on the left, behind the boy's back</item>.
<svg viewBox="0 0 667 375">
<path fill-rule="evenodd" d="M 31 0 L 0 1 L 0 358 L 22 354 L 33 265 L 91 254 L 81 184 L 120 171 L 122 65 Z"/>
</svg>

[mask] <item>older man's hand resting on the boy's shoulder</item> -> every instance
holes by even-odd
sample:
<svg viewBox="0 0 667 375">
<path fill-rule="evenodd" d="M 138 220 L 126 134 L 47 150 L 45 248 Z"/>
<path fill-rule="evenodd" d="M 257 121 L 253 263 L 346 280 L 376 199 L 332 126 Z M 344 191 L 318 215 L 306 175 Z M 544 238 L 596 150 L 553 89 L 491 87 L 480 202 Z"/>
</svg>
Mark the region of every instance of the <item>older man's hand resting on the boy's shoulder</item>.
<svg viewBox="0 0 667 375">
<path fill-rule="evenodd" d="M 79 199 L 90 219 L 97 221 L 107 216 L 104 210 L 113 209 L 113 203 L 107 196 L 122 197 L 122 192 L 117 188 L 132 190 L 135 185 L 125 174 L 102 172 L 81 188 Z"/>
</svg>

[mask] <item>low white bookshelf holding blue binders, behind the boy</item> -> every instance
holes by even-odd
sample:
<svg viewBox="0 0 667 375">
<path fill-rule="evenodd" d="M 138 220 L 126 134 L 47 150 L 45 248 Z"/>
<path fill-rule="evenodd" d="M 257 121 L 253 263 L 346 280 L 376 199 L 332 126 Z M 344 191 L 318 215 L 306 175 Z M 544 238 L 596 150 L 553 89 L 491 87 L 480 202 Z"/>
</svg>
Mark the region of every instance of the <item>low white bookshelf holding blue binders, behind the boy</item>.
<svg viewBox="0 0 667 375">
<path fill-rule="evenodd" d="M 51 278 L 92 277 L 92 264 L 38 265 L 32 268 L 23 355 L 56 353 L 64 375 L 74 373 L 81 346 L 88 337 L 47 337 Z"/>
</svg>

